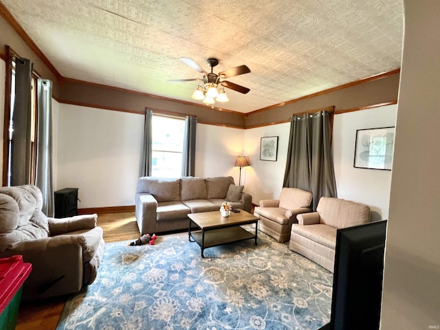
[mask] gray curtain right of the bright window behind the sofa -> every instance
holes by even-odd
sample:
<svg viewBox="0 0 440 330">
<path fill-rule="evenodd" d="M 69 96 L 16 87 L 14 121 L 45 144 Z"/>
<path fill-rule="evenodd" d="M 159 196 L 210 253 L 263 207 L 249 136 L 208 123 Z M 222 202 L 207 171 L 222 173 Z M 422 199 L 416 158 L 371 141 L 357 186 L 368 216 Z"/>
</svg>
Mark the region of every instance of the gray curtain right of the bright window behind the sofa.
<svg viewBox="0 0 440 330">
<path fill-rule="evenodd" d="M 185 119 L 184 152 L 181 159 L 181 176 L 195 175 L 195 131 L 197 117 L 187 115 Z"/>
</svg>

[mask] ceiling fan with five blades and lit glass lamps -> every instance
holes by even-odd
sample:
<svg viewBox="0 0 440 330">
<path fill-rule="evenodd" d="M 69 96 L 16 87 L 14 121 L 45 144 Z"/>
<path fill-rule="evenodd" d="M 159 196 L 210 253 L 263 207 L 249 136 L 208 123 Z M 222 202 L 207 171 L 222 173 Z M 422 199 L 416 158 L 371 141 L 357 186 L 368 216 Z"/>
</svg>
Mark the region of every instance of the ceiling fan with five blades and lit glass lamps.
<svg viewBox="0 0 440 330">
<path fill-rule="evenodd" d="M 223 88 L 217 90 L 217 87 L 223 86 L 234 91 L 238 91 L 241 94 L 247 94 L 250 89 L 247 87 L 243 87 L 241 85 L 237 85 L 231 83 L 230 81 L 223 80 L 224 78 L 231 78 L 234 76 L 240 76 L 241 74 L 248 74 L 250 72 L 249 67 L 246 65 L 240 65 L 239 67 L 232 67 L 225 71 L 219 72 L 218 74 L 214 74 L 213 69 L 216 65 L 219 64 L 219 60 L 217 58 L 208 58 L 206 60 L 206 64 L 211 68 L 211 72 L 207 73 L 195 61 L 191 58 L 181 57 L 180 61 L 192 67 L 197 72 L 203 74 L 203 78 L 192 78 L 192 79 L 175 79 L 169 80 L 172 82 L 185 82 L 185 81 L 200 81 L 201 84 L 197 87 L 194 94 L 192 94 L 192 98 L 196 100 L 203 100 L 206 104 L 214 104 L 217 100 L 218 102 L 227 102 L 228 96 L 226 96 Z"/>
</svg>

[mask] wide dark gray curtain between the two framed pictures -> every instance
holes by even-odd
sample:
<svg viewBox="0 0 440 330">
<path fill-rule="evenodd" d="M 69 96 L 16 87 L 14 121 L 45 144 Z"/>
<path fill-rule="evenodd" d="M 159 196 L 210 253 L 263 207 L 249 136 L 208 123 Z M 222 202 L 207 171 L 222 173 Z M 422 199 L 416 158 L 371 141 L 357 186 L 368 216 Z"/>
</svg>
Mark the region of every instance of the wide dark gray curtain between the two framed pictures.
<svg viewBox="0 0 440 330">
<path fill-rule="evenodd" d="M 337 197 L 331 155 L 329 111 L 292 116 L 284 175 L 284 187 L 300 188 L 313 194 L 316 210 L 322 196 Z"/>
</svg>

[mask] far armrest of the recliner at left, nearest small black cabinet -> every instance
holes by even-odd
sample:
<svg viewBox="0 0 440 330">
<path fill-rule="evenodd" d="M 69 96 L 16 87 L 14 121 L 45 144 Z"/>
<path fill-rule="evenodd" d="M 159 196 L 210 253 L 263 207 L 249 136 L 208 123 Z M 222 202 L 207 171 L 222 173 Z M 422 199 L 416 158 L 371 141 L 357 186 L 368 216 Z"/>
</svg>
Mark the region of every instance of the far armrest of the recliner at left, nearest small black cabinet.
<svg viewBox="0 0 440 330">
<path fill-rule="evenodd" d="M 84 214 L 63 219 L 47 218 L 47 221 L 51 236 L 55 236 L 77 230 L 93 229 L 96 227 L 97 219 L 98 214 Z"/>
</svg>

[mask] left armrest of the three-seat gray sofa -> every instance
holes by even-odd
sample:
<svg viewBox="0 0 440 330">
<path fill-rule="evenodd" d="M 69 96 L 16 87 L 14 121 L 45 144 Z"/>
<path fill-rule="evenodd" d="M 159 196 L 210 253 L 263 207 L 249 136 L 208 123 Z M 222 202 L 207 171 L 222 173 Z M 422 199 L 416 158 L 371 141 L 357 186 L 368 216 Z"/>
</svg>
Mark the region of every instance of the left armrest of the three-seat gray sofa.
<svg viewBox="0 0 440 330">
<path fill-rule="evenodd" d="M 141 235 L 154 232 L 156 228 L 157 200 L 148 193 L 136 194 L 136 221 Z"/>
</svg>

